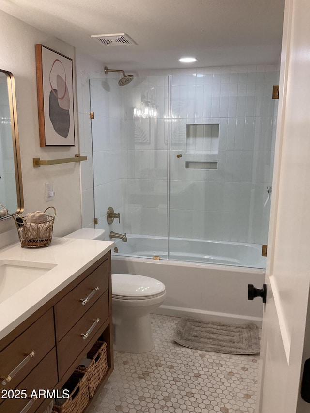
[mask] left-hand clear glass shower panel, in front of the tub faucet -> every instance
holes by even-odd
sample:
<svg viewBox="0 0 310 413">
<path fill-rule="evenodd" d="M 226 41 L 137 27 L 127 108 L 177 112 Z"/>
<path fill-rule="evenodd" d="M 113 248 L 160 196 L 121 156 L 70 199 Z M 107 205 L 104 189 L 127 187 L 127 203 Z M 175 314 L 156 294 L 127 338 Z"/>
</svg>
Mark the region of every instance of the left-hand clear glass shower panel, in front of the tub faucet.
<svg viewBox="0 0 310 413">
<path fill-rule="evenodd" d="M 97 228 L 117 253 L 167 258 L 167 76 L 135 77 L 123 87 L 112 75 L 90 81 Z M 120 223 L 107 222 L 109 206 Z"/>
</svg>

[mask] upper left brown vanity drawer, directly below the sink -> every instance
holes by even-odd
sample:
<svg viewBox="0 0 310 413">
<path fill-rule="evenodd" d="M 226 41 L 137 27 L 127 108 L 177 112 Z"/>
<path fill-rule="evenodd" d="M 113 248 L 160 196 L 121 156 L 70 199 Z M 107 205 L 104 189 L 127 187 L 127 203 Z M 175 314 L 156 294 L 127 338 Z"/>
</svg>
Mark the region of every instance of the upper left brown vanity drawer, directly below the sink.
<svg viewBox="0 0 310 413">
<path fill-rule="evenodd" d="M 6 385 L 0 380 L 0 389 L 14 389 L 27 374 L 43 359 L 43 357 L 55 346 L 54 315 L 50 308 L 43 316 L 35 321 L 27 330 L 18 336 L 12 343 L 0 352 L 0 377 L 7 377 L 28 354 L 28 361 L 10 382 Z M 3 399 L 0 398 L 0 403 Z"/>
</svg>

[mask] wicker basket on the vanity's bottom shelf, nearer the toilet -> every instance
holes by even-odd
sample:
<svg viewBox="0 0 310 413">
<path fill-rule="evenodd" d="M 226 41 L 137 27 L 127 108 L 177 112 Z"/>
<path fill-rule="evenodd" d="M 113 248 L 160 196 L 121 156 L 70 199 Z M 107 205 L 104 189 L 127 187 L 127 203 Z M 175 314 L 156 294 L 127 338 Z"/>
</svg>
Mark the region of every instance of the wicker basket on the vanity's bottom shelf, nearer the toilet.
<svg viewBox="0 0 310 413">
<path fill-rule="evenodd" d="M 87 367 L 78 366 L 78 370 L 87 373 L 89 397 L 92 398 L 104 375 L 108 371 L 107 343 L 96 341 L 87 358 L 92 361 Z"/>
</svg>

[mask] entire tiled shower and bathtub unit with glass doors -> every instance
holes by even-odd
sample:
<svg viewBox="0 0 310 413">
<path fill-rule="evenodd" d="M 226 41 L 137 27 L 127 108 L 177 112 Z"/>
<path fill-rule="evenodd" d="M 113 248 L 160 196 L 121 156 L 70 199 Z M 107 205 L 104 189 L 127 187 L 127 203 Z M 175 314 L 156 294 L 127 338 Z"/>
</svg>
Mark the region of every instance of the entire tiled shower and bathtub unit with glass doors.
<svg viewBox="0 0 310 413">
<path fill-rule="evenodd" d="M 162 314 L 260 324 L 263 303 L 248 301 L 248 284 L 263 285 L 261 245 L 187 234 L 266 239 L 277 113 L 267 91 L 278 81 L 278 69 L 202 68 L 190 75 L 180 69 L 134 77 L 105 67 L 109 72 L 123 77 L 90 80 L 91 109 L 99 114 L 92 121 L 95 216 L 107 233 L 147 234 L 115 240 L 113 273 L 162 281 Z M 234 86 L 228 103 L 222 82 Z M 210 88 L 219 92 L 210 96 Z M 239 90 L 245 91 L 241 98 Z M 245 104 L 237 105 L 239 99 Z M 227 110 L 221 113 L 221 107 Z M 107 225 L 107 190 L 127 225 Z M 157 230 L 180 238 L 150 235 Z"/>
</svg>

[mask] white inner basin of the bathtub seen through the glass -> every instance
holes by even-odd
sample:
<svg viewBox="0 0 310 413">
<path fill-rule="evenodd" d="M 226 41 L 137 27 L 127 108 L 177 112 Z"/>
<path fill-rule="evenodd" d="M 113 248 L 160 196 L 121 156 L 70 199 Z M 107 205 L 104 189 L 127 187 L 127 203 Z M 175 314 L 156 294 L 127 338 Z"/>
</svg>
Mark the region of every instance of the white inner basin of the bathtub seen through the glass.
<svg viewBox="0 0 310 413">
<path fill-rule="evenodd" d="M 118 253 L 125 256 L 167 259 L 167 240 L 148 235 L 127 235 L 127 242 L 115 239 Z M 170 260 L 266 268 L 262 245 L 196 239 L 170 239 Z"/>
</svg>

